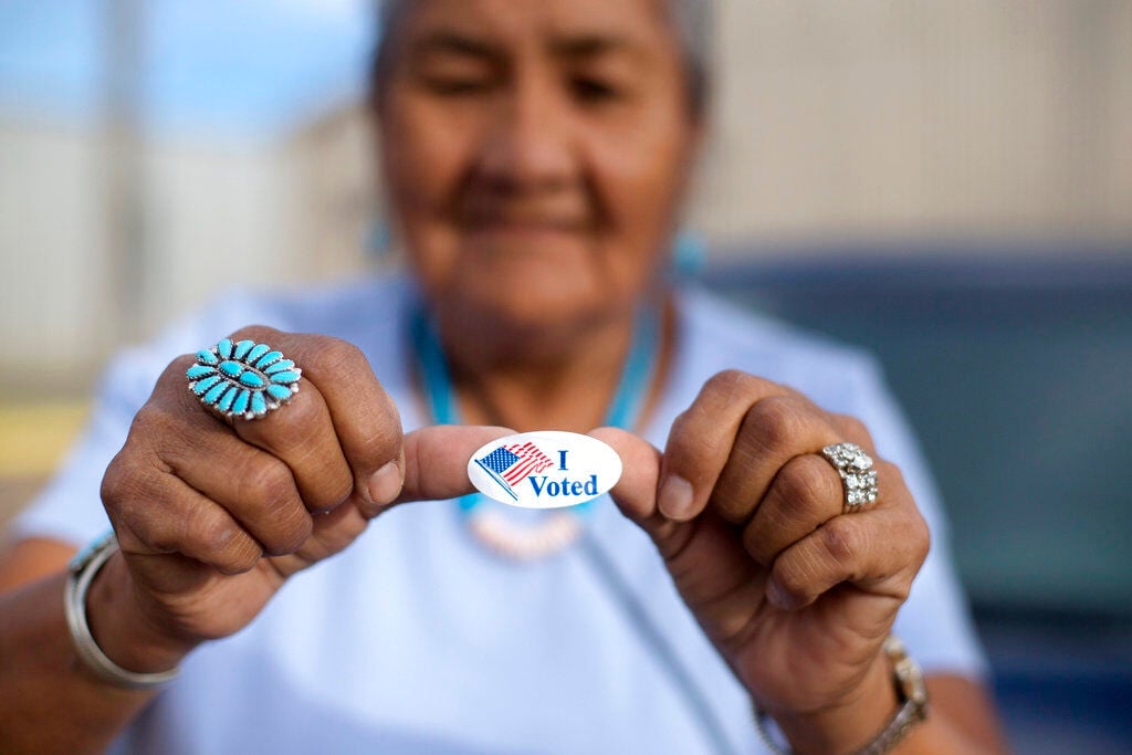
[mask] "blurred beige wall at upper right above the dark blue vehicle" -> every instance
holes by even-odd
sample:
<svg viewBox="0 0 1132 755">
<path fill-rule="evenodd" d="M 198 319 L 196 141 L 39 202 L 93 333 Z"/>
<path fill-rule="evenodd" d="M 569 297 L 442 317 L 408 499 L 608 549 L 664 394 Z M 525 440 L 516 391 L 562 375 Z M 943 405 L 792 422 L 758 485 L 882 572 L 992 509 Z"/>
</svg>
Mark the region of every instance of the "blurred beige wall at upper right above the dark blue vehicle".
<svg viewBox="0 0 1132 755">
<path fill-rule="evenodd" d="M 711 237 L 1132 242 L 1132 3 L 731 0 Z"/>
</svg>

